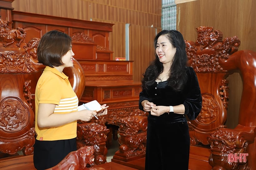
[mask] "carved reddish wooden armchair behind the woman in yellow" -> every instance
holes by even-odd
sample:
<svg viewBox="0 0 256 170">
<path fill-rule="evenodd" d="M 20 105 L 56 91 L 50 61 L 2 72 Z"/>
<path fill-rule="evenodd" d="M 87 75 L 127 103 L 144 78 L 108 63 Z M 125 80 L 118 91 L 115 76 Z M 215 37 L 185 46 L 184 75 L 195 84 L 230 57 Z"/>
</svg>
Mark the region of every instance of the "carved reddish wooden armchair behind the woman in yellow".
<svg viewBox="0 0 256 170">
<path fill-rule="evenodd" d="M 25 43 L 26 31 L 22 28 L 11 30 L 11 23 L 0 20 L 0 158 L 19 155 L 22 151 L 24 160 L 32 164 L 29 165 L 31 167 L 26 167 L 22 161 L 19 162 L 27 169 L 33 167 L 34 92 L 44 66 L 38 63 L 36 55 L 40 39 L 34 38 Z M 83 69 L 75 60 L 74 67 L 65 68 L 64 72 L 69 76 L 73 90 L 80 99 L 85 86 Z M 89 128 L 84 128 L 87 126 Z M 94 164 L 106 162 L 108 131 L 106 126 L 96 123 L 78 123 L 77 146 L 94 146 Z M 5 165 L 8 158 L 4 158 Z M 17 158 L 11 163 L 15 163 L 15 160 Z M 0 169 L 1 165 L 3 163 L 0 159 Z"/>
</svg>

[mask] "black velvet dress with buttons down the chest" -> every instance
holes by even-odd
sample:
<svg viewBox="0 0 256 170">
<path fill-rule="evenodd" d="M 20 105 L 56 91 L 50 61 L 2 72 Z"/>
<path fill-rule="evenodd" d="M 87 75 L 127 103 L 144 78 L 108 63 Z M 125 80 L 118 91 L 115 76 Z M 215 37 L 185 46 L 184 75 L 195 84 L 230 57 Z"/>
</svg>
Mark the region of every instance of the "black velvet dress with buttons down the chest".
<svg viewBox="0 0 256 170">
<path fill-rule="evenodd" d="M 140 92 L 140 110 L 143 110 L 143 100 L 157 106 L 184 104 L 185 115 L 194 120 L 200 113 L 202 97 L 193 68 L 186 69 L 188 80 L 183 91 L 175 92 L 167 81 L 155 82 L 149 90 Z M 189 128 L 184 115 L 170 112 L 157 117 L 149 114 L 145 170 L 187 170 L 189 149 Z"/>
</svg>

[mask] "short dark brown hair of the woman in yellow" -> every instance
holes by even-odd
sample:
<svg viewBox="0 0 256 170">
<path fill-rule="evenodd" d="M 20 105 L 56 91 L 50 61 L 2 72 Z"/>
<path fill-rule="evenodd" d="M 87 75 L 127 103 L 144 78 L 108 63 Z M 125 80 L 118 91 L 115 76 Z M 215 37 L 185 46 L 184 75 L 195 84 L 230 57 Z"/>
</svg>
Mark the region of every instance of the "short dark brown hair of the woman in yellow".
<svg viewBox="0 0 256 170">
<path fill-rule="evenodd" d="M 70 50 L 71 43 L 71 37 L 63 32 L 52 30 L 45 33 L 37 47 L 38 62 L 52 68 L 63 65 L 62 56 Z"/>
</svg>

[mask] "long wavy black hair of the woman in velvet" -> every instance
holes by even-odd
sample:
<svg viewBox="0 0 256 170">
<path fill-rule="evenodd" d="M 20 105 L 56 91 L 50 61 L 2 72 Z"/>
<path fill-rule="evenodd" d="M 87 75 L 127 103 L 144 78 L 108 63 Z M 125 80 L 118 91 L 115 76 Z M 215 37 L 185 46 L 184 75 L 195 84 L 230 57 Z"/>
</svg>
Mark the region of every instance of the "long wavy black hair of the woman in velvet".
<svg viewBox="0 0 256 170">
<path fill-rule="evenodd" d="M 187 64 L 187 53 L 185 50 L 185 42 L 182 34 L 177 30 L 162 30 L 159 32 L 154 39 L 154 46 L 156 49 L 157 39 L 165 35 L 169 39 L 173 47 L 176 48 L 176 53 L 172 59 L 172 65 L 170 68 L 170 77 L 168 79 L 169 86 L 175 91 L 181 91 L 187 81 L 186 64 Z M 155 52 L 155 60 L 150 64 L 143 74 L 142 89 L 150 89 L 155 82 L 155 79 L 163 72 L 163 63 L 159 61 L 159 57 Z"/>
</svg>

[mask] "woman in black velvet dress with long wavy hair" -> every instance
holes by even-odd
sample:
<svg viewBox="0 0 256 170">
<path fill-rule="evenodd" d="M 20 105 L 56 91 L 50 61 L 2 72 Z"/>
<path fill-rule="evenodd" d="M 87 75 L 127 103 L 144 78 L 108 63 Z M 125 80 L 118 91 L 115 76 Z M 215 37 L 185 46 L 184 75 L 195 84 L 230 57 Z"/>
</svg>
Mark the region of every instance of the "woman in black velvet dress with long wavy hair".
<svg viewBox="0 0 256 170">
<path fill-rule="evenodd" d="M 187 170 L 190 136 L 186 116 L 200 113 L 197 76 L 187 67 L 182 34 L 162 30 L 155 36 L 155 60 L 146 69 L 140 110 L 149 112 L 145 170 Z"/>
</svg>

